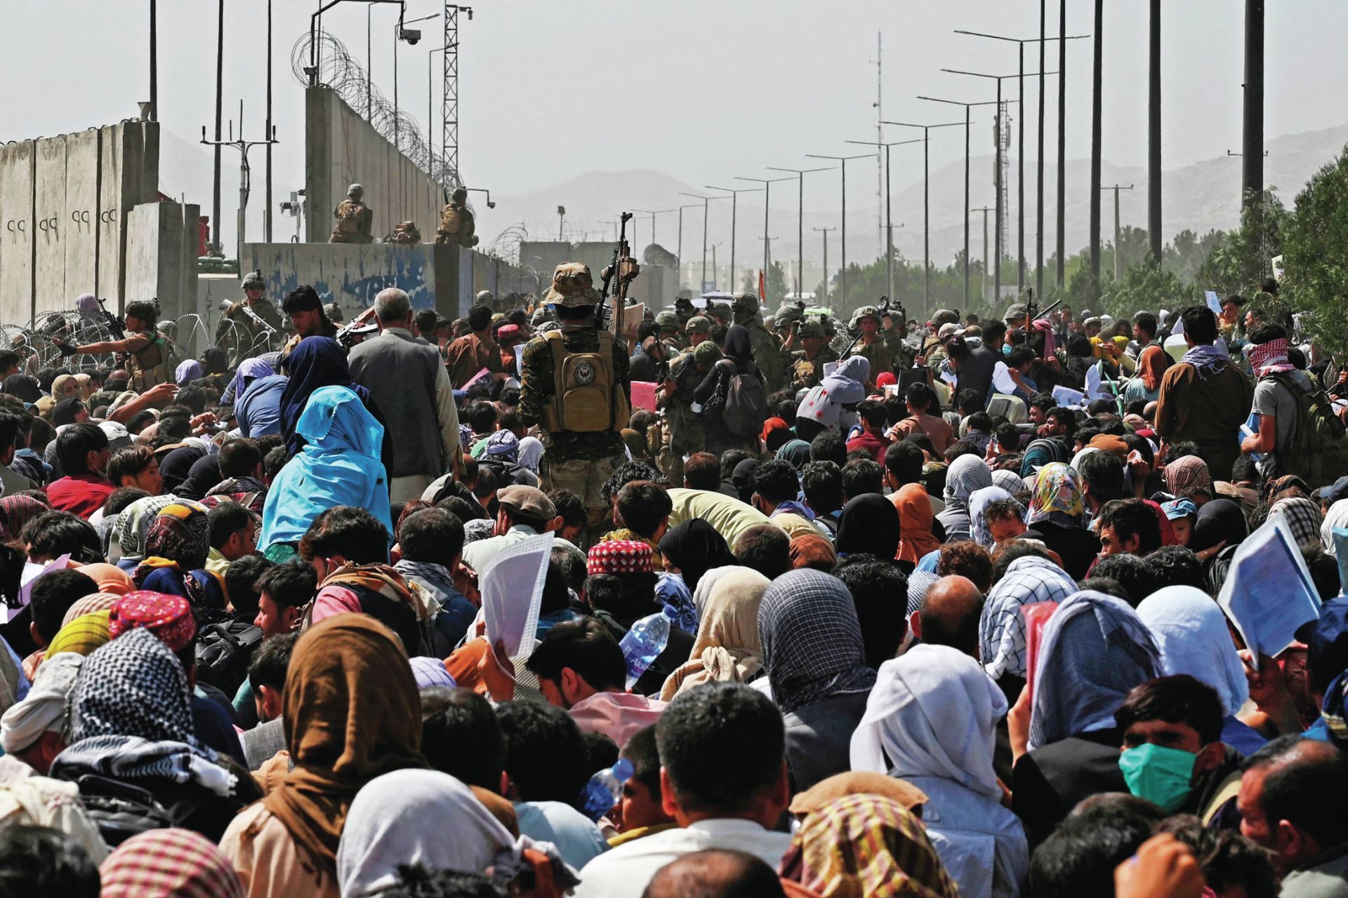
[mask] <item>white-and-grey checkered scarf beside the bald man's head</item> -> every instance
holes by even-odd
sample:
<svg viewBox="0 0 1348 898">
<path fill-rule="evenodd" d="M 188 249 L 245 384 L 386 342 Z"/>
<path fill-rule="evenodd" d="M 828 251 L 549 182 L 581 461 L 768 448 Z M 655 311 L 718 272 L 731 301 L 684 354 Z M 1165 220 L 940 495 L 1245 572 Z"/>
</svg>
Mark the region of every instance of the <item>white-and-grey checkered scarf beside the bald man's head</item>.
<svg viewBox="0 0 1348 898">
<path fill-rule="evenodd" d="M 1026 556 L 1007 568 L 988 592 L 979 621 L 979 657 L 993 680 L 1003 673 L 1024 676 L 1024 615 L 1020 609 L 1039 602 L 1066 602 L 1077 584 L 1047 559 Z"/>
</svg>

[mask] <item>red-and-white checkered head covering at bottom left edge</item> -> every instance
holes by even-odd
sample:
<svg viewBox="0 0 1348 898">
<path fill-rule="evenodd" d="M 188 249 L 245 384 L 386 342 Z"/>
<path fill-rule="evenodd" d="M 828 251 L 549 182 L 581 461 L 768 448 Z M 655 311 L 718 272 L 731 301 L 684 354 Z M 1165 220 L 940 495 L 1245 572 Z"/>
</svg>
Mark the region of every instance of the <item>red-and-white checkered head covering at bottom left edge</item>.
<svg viewBox="0 0 1348 898">
<path fill-rule="evenodd" d="M 229 859 L 190 829 L 151 829 L 117 847 L 98 868 L 101 898 L 244 898 Z"/>
</svg>

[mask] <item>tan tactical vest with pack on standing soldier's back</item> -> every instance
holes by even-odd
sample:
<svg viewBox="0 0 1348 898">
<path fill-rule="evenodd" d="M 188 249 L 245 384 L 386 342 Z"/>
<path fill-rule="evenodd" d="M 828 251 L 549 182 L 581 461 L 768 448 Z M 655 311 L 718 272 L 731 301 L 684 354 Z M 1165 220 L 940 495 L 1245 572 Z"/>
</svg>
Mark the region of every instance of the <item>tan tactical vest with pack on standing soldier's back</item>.
<svg viewBox="0 0 1348 898">
<path fill-rule="evenodd" d="M 569 353 L 562 331 L 543 334 L 553 349 L 554 390 L 543 408 L 543 425 L 553 432 L 621 431 L 631 417 L 627 396 L 613 376 L 613 334 L 599 331 L 597 353 Z"/>
</svg>

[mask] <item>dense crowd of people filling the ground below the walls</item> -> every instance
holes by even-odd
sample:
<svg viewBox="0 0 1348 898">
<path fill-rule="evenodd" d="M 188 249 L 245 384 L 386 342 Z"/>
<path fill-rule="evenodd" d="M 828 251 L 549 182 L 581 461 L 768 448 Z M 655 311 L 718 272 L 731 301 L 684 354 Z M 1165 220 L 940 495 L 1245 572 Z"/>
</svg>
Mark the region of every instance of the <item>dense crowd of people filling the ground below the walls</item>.
<svg viewBox="0 0 1348 898">
<path fill-rule="evenodd" d="M 581 269 L 0 351 L 0 898 L 1348 898 L 1343 386 L 1290 322 L 741 295 L 624 345 Z M 1274 657 L 1217 600 L 1260 528 L 1318 607 Z"/>
</svg>

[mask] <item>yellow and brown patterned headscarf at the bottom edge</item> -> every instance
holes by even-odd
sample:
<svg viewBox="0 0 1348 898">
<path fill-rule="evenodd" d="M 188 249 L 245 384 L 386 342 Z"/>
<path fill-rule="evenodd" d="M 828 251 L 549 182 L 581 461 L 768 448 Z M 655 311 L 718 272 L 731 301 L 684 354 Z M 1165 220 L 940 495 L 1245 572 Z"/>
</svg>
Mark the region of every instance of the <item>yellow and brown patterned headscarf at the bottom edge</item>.
<svg viewBox="0 0 1348 898">
<path fill-rule="evenodd" d="M 911 810 L 892 798 L 845 796 L 811 812 L 782 858 L 782 879 L 822 898 L 958 898 Z"/>
</svg>

